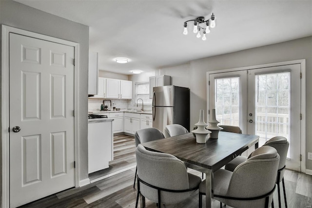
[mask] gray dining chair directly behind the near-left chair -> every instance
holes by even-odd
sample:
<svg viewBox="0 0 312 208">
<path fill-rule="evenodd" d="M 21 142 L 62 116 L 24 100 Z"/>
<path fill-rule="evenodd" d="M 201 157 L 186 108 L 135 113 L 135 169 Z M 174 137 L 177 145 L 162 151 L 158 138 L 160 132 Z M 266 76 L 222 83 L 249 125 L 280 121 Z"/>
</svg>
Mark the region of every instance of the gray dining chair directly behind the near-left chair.
<svg viewBox="0 0 312 208">
<path fill-rule="evenodd" d="M 158 139 L 163 139 L 163 138 L 165 138 L 165 135 L 157 128 L 139 129 L 135 133 L 136 147 L 138 144 L 141 144 L 144 142 L 150 142 L 150 141 L 154 141 Z M 133 184 L 133 187 L 136 186 L 136 179 L 137 179 L 137 168 L 136 168 L 135 182 Z"/>
</svg>

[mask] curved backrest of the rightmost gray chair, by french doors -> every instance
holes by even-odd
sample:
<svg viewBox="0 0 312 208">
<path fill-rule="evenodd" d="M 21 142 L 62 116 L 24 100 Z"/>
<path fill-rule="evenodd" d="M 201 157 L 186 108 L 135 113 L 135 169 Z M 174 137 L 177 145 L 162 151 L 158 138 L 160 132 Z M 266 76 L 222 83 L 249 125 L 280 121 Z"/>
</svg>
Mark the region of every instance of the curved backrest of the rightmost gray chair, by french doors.
<svg viewBox="0 0 312 208">
<path fill-rule="evenodd" d="M 283 169 L 283 167 L 286 164 L 289 142 L 285 137 L 277 136 L 268 140 L 263 146 L 272 146 L 276 149 L 277 153 L 279 154 L 280 159 L 278 169 L 280 171 L 279 175 L 277 176 L 276 182 L 281 182 L 284 177 L 285 170 Z"/>
</svg>

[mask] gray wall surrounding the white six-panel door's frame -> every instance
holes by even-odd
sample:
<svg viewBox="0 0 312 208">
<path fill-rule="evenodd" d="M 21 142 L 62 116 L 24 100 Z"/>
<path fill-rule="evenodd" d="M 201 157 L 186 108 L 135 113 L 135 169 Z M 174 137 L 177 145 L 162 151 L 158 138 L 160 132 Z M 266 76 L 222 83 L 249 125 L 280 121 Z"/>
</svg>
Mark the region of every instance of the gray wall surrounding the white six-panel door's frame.
<svg viewBox="0 0 312 208">
<path fill-rule="evenodd" d="M 59 39 L 78 42 L 80 44 L 80 61 L 78 69 L 78 93 L 80 95 L 80 110 L 77 113 L 80 122 L 80 125 L 78 126 L 80 136 L 80 180 L 88 178 L 88 123 L 86 115 L 88 114 L 89 27 L 42 12 L 12 0 L 0 0 L 0 24 L 52 36 Z M 2 167 L 0 173 L 1 172 Z M 0 187 L 0 191 L 1 189 L 2 188 Z"/>
</svg>

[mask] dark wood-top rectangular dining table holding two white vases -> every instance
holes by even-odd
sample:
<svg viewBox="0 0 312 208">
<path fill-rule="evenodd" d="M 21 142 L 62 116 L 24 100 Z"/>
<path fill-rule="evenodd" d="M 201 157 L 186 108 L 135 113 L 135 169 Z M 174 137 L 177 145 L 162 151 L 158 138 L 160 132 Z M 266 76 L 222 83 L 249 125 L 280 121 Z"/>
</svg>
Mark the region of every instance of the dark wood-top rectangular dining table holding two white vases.
<svg viewBox="0 0 312 208">
<path fill-rule="evenodd" d="M 168 153 L 186 166 L 206 174 L 206 208 L 213 207 L 214 172 L 251 146 L 258 147 L 259 136 L 220 131 L 218 138 L 207 136 L 206 143 L 196 143 L 193 133 L 142 143 L 150 151 Z M 210 191 L 208 191 L 210 190 Z"/>
</svg>

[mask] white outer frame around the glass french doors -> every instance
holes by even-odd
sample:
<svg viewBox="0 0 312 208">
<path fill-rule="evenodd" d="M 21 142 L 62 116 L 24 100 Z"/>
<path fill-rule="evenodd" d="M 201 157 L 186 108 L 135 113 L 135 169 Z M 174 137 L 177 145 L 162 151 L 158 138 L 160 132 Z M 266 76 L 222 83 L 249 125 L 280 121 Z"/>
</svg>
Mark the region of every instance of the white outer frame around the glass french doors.
<svg viewBox="0 0 312 208">
<path fill-rule="evenodd" d="M 307 173 L 306 171 L 306 60 L 293 60 L 287 62 L 276 62 L 276 63 L 266 63 L 254 66 L 244 66 L 238 68 L 230 68 L 230 69 L 221 69 L 215 71 L 208 71 L 206 76 L 206 83 L 207 83 L 207 118 L 209 118 L 208 110 L 209 110 L 209 75 L 210 74 L 217 74 L 217 73 L 224 73 L 224 72 L 234 72 L 234 71 L 242 71 L 242 70 L 250 70 L 250 69 L 258 69 L 258 68 L 266 68 L 266 67 L 274 67 L 274 66 L 283 66 L 283 65 L 291 65 L 291 64 L 300 64 L 301 68 L 301 115 L 302 119 L 300 122 L 301 125 L 301 136 L 300 136 L 300 154 L 301 154 L 301 161 L 300 161 L 300 168 L 301 172 Z"/>
</svg>

